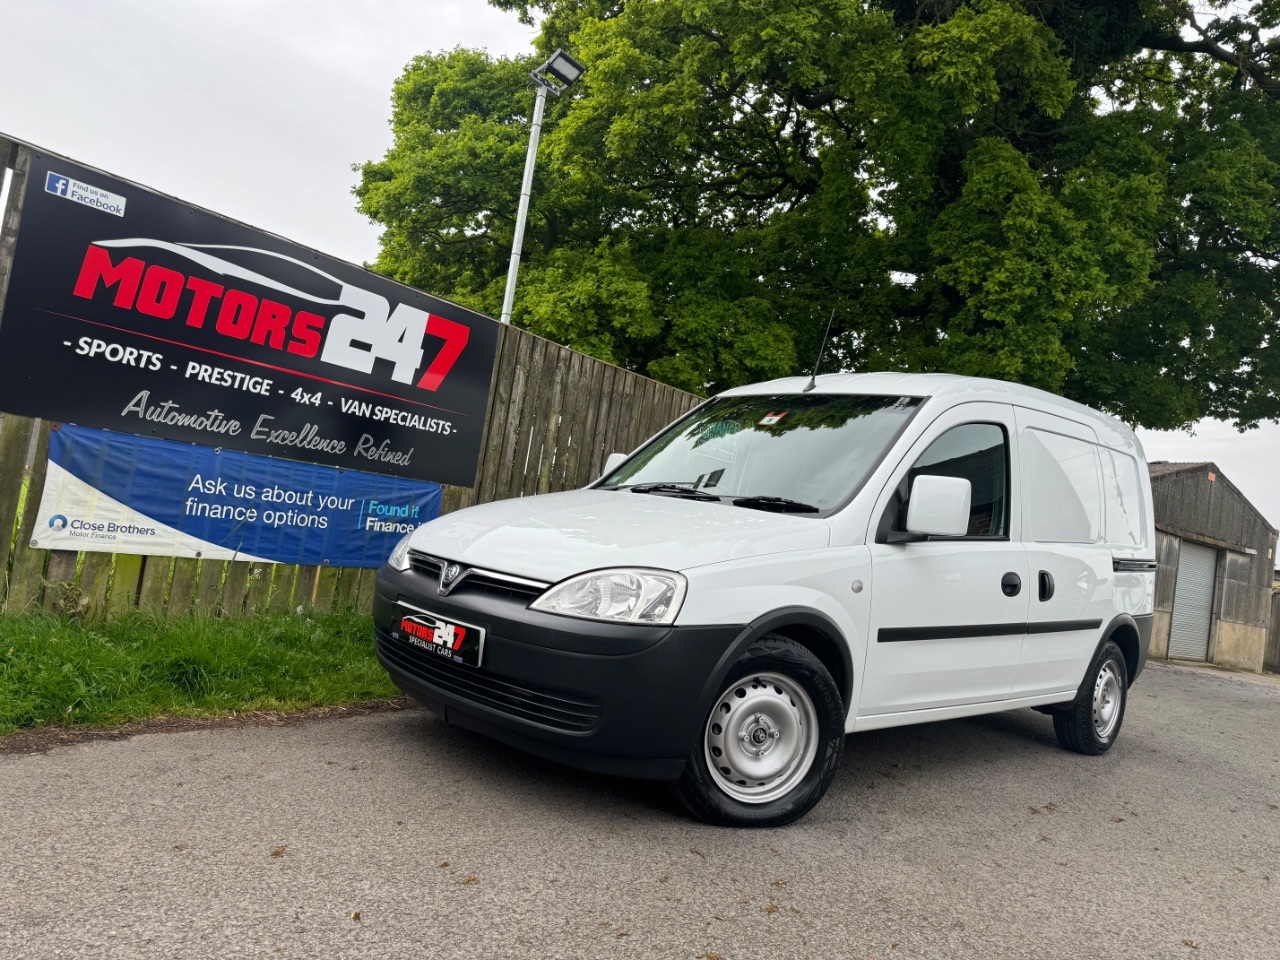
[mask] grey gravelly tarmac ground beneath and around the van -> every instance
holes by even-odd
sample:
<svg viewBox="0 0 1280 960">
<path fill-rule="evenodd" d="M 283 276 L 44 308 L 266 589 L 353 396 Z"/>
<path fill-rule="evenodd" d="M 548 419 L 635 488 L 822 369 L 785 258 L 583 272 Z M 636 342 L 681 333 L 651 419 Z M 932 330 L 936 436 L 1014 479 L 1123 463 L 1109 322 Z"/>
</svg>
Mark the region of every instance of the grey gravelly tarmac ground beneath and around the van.
<svg viewBox="0 0 1280 960">
<path fill-rule="evenodd" d="M 0 755 L 0 957 L 1280 957 L 1280 687 L 1153 664 L 1106 756 L 851 736 L 801 823 L 687 819 L 422 709 Z"/>
</svg>

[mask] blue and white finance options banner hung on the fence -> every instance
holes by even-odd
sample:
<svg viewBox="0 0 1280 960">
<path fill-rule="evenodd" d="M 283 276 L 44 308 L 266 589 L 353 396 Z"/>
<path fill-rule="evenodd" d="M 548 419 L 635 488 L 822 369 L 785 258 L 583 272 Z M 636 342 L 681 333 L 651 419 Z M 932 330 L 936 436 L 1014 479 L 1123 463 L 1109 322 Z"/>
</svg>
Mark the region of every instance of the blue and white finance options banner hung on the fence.
<svg viewBox="0 0 1280 960">
<path fill-rule="evenodd" d="M 379 567 L 439 484 L 63 425 L 33 547 Z"/>
</svg>

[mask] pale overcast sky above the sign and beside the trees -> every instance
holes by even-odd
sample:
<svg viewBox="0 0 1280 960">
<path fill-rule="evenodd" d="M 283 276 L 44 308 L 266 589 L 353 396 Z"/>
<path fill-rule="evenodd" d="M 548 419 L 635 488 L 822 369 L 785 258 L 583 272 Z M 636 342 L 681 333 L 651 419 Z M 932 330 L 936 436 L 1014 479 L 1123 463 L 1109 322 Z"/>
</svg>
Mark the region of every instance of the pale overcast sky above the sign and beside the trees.
<svg viewBox="0 0 1280 960">
<path fill-rule="evenodd" d="M 404 64 L 532 38 L 483 0 L 0 0 L 0 132 L 355 262 L 378 229 L 351 165 L 390 146 Z M 1280 526 L 1280 428 L 1142 436 L 1215 461 Z"/>
</svg>

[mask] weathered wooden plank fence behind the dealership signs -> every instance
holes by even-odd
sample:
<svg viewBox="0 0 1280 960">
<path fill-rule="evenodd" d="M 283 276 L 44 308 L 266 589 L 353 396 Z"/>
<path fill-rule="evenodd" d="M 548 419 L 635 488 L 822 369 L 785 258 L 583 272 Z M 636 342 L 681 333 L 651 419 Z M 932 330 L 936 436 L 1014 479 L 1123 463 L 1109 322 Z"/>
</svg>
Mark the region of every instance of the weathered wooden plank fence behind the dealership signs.
<svg viewBox="0 0 1280 960">
<path fill-rule="evenodd" d="M 0 138 L 0 173 L 4 165 L 13 170 L 0 220 L 0 305 L 29 163 L 27 147 Z M 476 484 L 445 486 L 443 509 L 582 486 L 600 475 L 609 453 L 635 449 L 698 402 L 691 393 L 503 326 Z M 49 430 L 38 420 L 0 420 L 0 531 L 12 531 L 0 534 L 4 613 L 44 607 L 86 617 L 134 609 L 252 616 L 367 611 L 372 603 L 371 570 L 40 549 L 35 521 Z"/>
</svg>

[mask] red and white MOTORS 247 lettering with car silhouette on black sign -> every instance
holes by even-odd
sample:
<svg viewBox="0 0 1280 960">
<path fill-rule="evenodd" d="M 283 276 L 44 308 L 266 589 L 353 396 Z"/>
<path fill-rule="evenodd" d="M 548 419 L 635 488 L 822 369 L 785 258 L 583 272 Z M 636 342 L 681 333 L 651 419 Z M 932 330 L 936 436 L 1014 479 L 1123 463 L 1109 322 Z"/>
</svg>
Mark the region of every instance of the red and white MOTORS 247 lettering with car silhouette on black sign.
<svg viewBox="0 0 1280 960">
<path fill-rule="evenodd" d="M 124 252 L 145 250 L 177 255 L 200 271 L 183 273 Z M 229 257 L 266 257 L 296 279 L 283 282 Z M 326 292 L 337 294 L 303 289 L 297 279 L 307 274 L 328 282 Z M 283 296 L 257 296 L 239 289 L 237 282 Z M 319 355 L 325 364 L 362 374 L 371 374 L 376 360 L 389 361 L 393 380 L 422 390 L 440 388 L 471 334 L 465 324 L 407 303 L 397 303 L 393 310 L 385 297 L 311 264 L 256 247 L 146 238 L 96 241 L 84 251 L 74 294 L 86 300 L 110 297 L 124 310 L 212 330 L 227 338 L 228 346 L 241 340 L 282 355 Z M 312 308 L 298 308 L 298 301 Z M 429 358 L 428 344 L 433 347 Z"/>
</svg>

